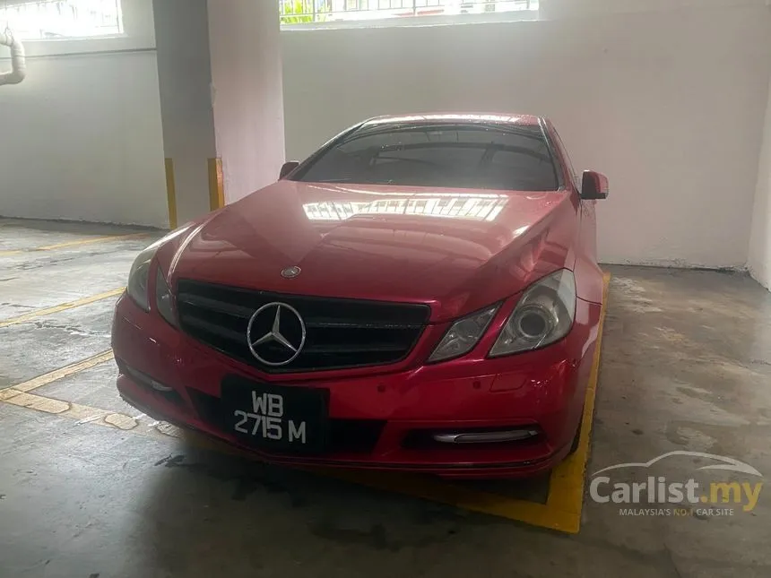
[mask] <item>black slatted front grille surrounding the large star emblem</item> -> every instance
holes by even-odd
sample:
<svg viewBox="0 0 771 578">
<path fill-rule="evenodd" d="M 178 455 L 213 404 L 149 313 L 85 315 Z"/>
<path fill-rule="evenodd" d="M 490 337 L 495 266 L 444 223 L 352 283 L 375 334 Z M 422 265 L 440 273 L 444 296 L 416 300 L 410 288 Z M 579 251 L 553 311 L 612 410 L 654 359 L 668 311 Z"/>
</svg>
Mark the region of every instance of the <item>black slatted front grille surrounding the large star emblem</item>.
<svg viewBox="0 0 771 578">
<path fill-rule="evenodd" d="M 283 366 L 262 363 L 247 343 L 249 319 L 261 306 L 273 302 L 297 310 L 307 332 L 299 355 Z M 268 373 L 378 366 L 400 361 L 418 341 L 430 313 L 429 306 L 424 305 L 280 295 L 194 280 L 178 281 L 177 307 L 184 332 Z M 260 323 L 264 323 L 262 317 Z M 253 327 L 253 341 L 270 330 L 271 327 L 264 324 Z M 299 344 L 299 329 L 291 323 L 284 324 L 282 332 L 287 332 L 286 337 L 295 346 Z M 278 342 L 260 347 L 258 352 L 268 361 L 287 357 L 287 349 Z"/>
</svg>

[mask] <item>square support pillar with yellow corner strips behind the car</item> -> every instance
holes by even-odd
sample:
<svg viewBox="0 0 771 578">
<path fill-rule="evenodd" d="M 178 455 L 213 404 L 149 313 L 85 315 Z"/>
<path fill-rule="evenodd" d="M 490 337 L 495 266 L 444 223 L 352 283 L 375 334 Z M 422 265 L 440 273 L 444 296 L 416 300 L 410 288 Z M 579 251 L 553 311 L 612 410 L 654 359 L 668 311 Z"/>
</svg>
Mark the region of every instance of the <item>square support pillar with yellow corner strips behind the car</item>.
<svg viewBox="0 0 771 578">
<path fill-rule="evenodd" d="M 153 13 L 174 227 L 278 177 L 279 12 L 275 2 L 153 0 Z"/>
</svg>

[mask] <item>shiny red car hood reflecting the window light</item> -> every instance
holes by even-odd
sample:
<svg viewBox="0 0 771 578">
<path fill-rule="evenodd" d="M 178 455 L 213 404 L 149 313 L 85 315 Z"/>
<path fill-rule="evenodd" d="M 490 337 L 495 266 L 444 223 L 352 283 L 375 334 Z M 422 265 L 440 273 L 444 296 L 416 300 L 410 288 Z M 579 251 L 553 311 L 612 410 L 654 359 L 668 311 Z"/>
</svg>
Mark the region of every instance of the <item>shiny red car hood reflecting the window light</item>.
<svg viewBox="0 0 771 578">
<path fill-rule="evenodd" d="M 565 191 L 282 180 L 191 225 L 160 260 L 172 283 L 426 303 L 437 322 L 572 268 L 575 203 Z M 291 266 L 301 272 L 283 278 Z"/>
</svg>

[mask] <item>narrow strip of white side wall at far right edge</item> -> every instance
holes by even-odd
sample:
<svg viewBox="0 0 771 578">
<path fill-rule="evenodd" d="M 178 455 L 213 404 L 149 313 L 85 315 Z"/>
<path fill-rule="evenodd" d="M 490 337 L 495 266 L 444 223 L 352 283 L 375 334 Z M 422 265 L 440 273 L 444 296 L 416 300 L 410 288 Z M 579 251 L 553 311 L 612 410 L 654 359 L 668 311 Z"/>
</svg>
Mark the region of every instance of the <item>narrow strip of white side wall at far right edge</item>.
<svg viewBox="0 0 771 578">
<path fill-rule="evenodd" d="M 752 276 L 771 289 L 771 92 L 763 129 L 763 147 L 760 150 L 748 266 Z"/>
</svg>

